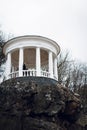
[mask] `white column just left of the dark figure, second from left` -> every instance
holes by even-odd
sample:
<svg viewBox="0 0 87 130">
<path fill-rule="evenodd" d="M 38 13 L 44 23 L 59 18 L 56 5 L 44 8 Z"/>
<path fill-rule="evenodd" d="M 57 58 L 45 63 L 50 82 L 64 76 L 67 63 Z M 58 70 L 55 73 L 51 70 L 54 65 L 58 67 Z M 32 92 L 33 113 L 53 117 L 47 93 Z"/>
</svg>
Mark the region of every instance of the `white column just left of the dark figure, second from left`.
<svg viewBox="0 0 87 130">
<path fill-rule="evenodd" d="M 23 56 L 23 48 L 19 49 L 19 76 L 23 76 L 23 61 L 24 61 L 24 56 Z"/>
</svg>

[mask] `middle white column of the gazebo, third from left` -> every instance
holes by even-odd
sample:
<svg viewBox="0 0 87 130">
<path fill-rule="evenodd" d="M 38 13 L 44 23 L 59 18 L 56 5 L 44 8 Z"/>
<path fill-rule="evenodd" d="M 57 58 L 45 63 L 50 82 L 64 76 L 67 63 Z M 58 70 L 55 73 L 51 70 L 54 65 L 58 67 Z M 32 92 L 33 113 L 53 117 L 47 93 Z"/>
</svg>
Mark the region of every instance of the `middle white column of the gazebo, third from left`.
<svg viewBox="0 0 87 130">
<path fill-rule="evenodd" d="M 36 48 L 36 71 L 37 76 L 41 76 L 41 60 L 40 60 L 40 48 Z"/>
</svg>

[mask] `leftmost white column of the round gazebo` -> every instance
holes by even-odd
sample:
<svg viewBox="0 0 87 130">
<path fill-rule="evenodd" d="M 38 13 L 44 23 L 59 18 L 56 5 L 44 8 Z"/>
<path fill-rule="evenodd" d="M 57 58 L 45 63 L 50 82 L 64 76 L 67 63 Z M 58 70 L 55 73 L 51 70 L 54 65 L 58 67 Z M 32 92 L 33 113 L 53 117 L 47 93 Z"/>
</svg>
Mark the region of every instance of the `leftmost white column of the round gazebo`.
<svg viewBox="0 0 87 130">
<path fill-rule="evenodd" d="M 7 61 L 6 61 L 6 79 L 9 79 L 9 74 L 11 73 L 11 52 L 7 54 Z"/>
</svg>

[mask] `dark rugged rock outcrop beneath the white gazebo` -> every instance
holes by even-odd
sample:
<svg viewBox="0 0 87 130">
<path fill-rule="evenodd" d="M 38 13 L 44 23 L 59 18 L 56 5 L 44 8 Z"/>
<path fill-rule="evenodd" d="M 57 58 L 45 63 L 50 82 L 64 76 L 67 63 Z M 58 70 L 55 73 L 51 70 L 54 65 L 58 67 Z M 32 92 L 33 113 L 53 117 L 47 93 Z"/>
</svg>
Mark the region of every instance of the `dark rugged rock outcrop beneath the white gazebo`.
<svg viewBox="0 0 87 130">
<path fill-rule="evenodd" d="M 79 96 L 57 81 L 25 77 L 0 85 L 1 130 L 85 130 L 75 124 Z"/>
</svg>

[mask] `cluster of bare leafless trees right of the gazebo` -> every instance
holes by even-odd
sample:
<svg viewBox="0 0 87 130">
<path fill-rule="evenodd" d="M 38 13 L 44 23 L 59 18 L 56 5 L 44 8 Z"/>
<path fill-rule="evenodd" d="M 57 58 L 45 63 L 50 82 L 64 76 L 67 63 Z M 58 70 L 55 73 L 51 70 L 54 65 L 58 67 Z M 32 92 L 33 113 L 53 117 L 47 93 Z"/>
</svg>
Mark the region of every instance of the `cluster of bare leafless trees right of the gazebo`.
<svg viewBox="0 0 87 130">
<path fill-rule="evenodd" d="M 78 92 L 87 83 L 87 65 L 71 60 L 69 52 L 61 52 L 58 57 L 58 80 L 60 84 Z"/>
</svg>

